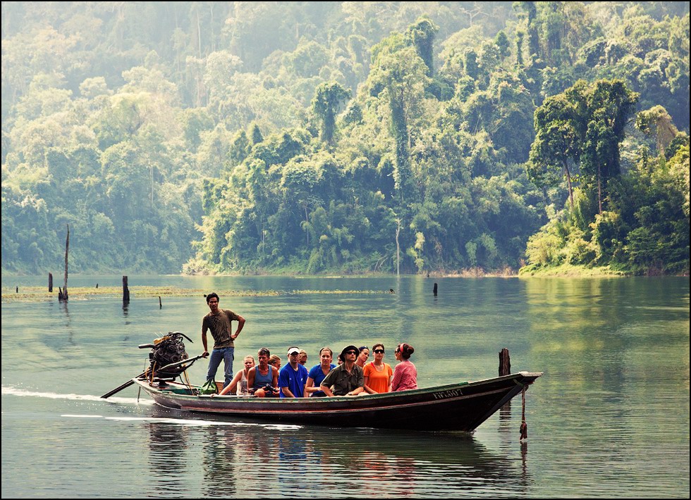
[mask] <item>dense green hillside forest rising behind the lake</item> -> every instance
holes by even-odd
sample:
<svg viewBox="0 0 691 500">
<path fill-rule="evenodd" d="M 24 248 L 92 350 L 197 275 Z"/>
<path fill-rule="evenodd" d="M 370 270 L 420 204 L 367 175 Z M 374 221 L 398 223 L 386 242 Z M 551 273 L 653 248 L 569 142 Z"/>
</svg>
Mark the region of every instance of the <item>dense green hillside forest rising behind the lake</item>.
<svg viewBox="0 0 691 500">
<path fill-rule="evenodd" d="M 3 2 L 2 272 L 689 272 L 688 2 Z"/>
</svg>

